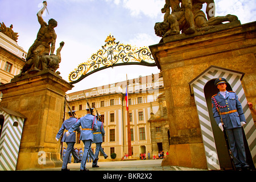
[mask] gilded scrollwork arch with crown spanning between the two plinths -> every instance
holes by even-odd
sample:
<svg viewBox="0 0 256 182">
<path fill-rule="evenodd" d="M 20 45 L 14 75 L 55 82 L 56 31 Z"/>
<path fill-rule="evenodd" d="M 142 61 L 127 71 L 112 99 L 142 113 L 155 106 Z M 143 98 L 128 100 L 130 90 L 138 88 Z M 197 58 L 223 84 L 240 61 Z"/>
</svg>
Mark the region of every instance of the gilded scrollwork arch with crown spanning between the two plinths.
<svg viewBox="0 0 256 182">
<path fill-rule="evenodd" d="M 156 66 L 155 60 L 147 47 L 137 48 L 129 44 L 115 42 L 115 38 L 109 35 L 102 49 L 94 53 L 86 63 L 82 63 L 75 71 L 69 74 L 69 81 L 74 84 L 86 76 L 101 69 L 117 65 L 139 64 Z"/>
</svg>

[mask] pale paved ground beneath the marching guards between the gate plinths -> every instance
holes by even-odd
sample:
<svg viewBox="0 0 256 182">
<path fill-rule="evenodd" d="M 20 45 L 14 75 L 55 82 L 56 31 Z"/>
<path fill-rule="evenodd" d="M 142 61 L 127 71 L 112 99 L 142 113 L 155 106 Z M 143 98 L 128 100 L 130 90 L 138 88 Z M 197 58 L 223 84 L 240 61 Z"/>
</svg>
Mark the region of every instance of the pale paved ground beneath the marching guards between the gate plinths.
<svg viewBox="0 0 256 182">
<path fill-rule="evenodd" d="M 92 162 L 86 163 L 90 171 L 206 171 L 197 168 L 185 168 L 177 166 L 161 166 L 162 159 L 156 160 L 129 160 L 114 162 L 98 162 L 98 168 L 92 168 Z M 81 163 L 69 163 L 71 171 L 80 171 Z M 60 171 L 61 168 L 29 169 L 25 171 Z"/>
</svg>

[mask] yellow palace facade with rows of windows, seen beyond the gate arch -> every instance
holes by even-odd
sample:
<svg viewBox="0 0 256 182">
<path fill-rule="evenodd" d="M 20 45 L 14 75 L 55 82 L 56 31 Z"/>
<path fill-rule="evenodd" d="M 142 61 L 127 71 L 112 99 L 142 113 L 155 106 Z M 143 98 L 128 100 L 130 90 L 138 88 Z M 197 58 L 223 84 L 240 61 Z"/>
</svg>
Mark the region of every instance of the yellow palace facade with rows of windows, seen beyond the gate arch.
<svg viewBox="0 0 256 182">
<path fill-rule="evenodd" d="M 86 115 L 86 98 L 90 106 L 96 108 L 101 115 L 105 130 L 102 148 L 109 156 L 108 160 L 111 160 L 112 153 L 117 154 L 115 160 L 122 160 L 128 152 L 126 85 L 126 81 L 122 81 L 67 94 L 68 105 L 76 110 L 77 118 Z M 132 158 L 139 159 L 141 153 L 146 153 L 147 157 L 150 152 L 152 158 L 154 154 L 158 155 L 158 151 L 167 152 L 169 127 L 167 114 L 163 111 L 165 97 L 162 76 L 159 73 L 129 80 L 128 92 Z M 68 111 L 66 106 L 66 119 L 69 117 Z M 96 115 L 95 109 L 94 114 Z M 77 134 L 75 148 L 84 150 L 84 144 L 79 137 Z M 95 148 L 96 144 L 92 144 L 93 151 Z M 104 157 L 100 154 L 99 160 L 101 159 Z"/>
</svg>

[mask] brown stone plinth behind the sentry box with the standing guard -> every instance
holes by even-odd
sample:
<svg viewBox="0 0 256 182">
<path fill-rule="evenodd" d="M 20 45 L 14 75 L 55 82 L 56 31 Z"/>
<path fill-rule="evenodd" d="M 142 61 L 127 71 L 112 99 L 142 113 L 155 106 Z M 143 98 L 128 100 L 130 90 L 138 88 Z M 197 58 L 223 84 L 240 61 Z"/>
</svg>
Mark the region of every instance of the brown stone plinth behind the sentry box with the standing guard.
<svg viewBox="0 0 256 182">
<path fill-rule="evenodd" d="M 256 103 L 256 22 L 226 23 L 212 30 L 164 38 L 150 46 L 163 73 L 170 151 L 162 165 L 207 168 L 196 103 L 189 82 L 211 65 L 245 73 L 248 101 Z"/>
</svg>

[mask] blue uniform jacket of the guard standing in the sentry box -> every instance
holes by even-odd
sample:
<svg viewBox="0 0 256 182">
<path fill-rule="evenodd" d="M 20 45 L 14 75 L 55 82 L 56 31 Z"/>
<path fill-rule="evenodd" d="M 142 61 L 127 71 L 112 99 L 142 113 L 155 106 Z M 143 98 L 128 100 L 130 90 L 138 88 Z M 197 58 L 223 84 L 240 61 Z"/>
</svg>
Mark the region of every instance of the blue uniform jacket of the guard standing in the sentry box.
<svg viewBox="0 0 256 182">
<path fill-rule="evenodd" d="M 215 98 L 215 101 L 214 101 L 214 98 Z M 220 94 L 220 92 L 218 92 L 216 95 L 212 96 L 213 117 L 218 125 L 219 123 L 221 123 L 221 118 L 220 118 L 220 115 L 216 108 L 216 103 L 217 103 L 217 106 L 220 105 L 221 113 L 232 111 L 232 110 L 237 110 L 236 112 L 233 112 L 233 113 L 221 114 L 222 121 L 223 121 L 226 129 L 233 129 L 236 127 L 241 127 L 241 122 L 242 121 L 246 122 L 245 115 L 243 114 L 241 102 L 238 100 L 236 93 L 226 91 L 226 98 L 224 98 Z M 223 106 L 223 108 L 221 106 Z"/>
</svg>

